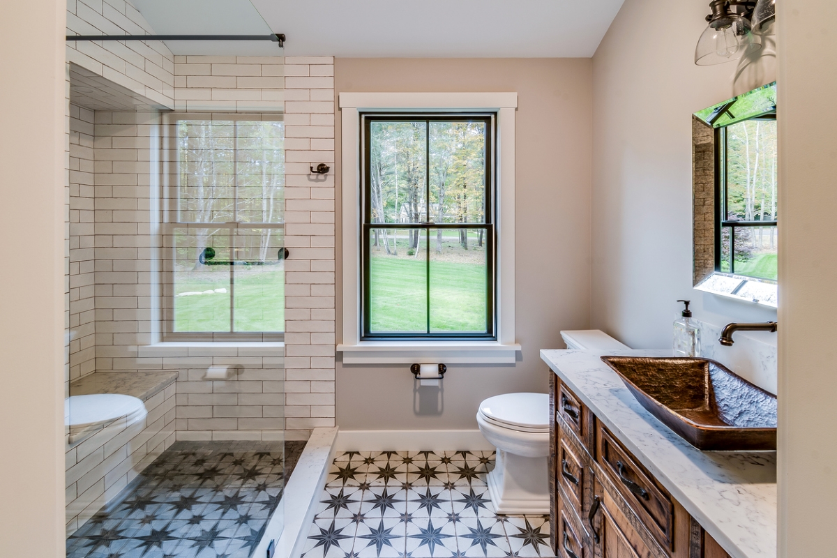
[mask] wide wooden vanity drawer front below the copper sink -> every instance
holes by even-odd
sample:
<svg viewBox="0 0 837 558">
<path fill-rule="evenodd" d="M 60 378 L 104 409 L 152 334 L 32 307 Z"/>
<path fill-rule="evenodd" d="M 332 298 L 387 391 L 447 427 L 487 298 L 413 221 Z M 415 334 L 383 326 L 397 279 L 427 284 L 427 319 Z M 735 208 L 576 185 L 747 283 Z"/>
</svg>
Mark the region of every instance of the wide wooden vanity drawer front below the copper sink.
<svg viewBox="0 0 837 558">
<path fill-rule="evenodd" d="M 674 504 L 636 459 L 598 424 L 598 463 L 639 519 L 665 548 L 673 549 Z"/>
</svg>

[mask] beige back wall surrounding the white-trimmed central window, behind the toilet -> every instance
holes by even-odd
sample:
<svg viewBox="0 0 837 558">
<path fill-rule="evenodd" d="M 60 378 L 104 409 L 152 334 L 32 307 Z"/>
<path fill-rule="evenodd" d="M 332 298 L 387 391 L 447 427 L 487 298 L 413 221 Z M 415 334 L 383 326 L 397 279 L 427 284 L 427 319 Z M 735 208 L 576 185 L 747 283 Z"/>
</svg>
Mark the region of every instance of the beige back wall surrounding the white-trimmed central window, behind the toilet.
<svg viewBox="0 0 837 558">
<path fill-rule="evenodd" d="M 476 428 L 476 409 L 485 397 L 547 391 L 547 368 L 538 351 L 562 346 L 560 330 L 589 325 L 590 72 L 589 59 L 335 60 L 335 95 L 518 93 L 515 296 L 516 337 L 523 347 L 514 366 L 449 366 L 441 399 L 430 401 L 414 396 L 408 366 L 344 366 L 338 355 L 336 424 L 341 429 Z M 341 160 L 340 134 L 338 129 L 336 161 Z M 341 171 L 335 175 L 341 207 Z M 336 230 L 341 246 L 341 223 Z M 336 264 L 340 340 L 340 253 Z"/>
</svg>

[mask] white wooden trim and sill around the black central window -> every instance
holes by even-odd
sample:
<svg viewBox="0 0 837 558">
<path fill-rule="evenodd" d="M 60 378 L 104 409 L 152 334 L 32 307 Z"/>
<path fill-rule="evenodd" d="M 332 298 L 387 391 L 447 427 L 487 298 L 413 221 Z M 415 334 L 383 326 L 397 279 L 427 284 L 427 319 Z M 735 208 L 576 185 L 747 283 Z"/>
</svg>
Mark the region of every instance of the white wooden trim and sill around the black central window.
<svg viewBox="0 0 837 558">
<path fill-rule="evenodd" d="M 516 361 L 515 342 L 515 113 L 516 93 L 341 93 L 343 342 L 345 364 L 488 364 Z M 497 340 L 360 340 L 360 113 L 496 111 L 499 200 L 497 250 Z"/>
</svg>

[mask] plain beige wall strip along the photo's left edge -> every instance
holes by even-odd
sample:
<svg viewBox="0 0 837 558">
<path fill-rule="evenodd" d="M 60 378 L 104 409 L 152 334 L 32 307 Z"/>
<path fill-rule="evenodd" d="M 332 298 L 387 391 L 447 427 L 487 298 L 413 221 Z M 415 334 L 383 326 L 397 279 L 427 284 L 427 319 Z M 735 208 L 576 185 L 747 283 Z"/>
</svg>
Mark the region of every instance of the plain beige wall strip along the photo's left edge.
<svg viewBox="0 0 837 558">
<path fill-rule="evenodd" d="M 0 3 L 3 555 L 64 555 L 64 0 Z"/>
</svg>

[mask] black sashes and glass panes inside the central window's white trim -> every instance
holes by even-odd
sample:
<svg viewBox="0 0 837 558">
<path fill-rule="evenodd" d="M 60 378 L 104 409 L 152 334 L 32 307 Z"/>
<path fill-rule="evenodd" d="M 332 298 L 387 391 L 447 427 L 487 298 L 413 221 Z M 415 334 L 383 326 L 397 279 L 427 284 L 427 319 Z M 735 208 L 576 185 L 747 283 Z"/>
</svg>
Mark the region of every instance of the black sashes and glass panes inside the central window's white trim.
<svg viewBox="0 0 837 558">
<path fill-rule="evenodd" d="M 495 121 L 362 115 L 363 340 L 496 339 Z"/>
</svg>

